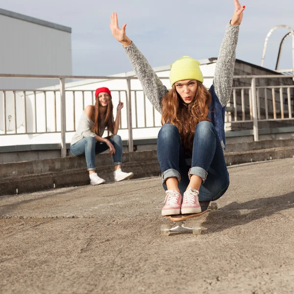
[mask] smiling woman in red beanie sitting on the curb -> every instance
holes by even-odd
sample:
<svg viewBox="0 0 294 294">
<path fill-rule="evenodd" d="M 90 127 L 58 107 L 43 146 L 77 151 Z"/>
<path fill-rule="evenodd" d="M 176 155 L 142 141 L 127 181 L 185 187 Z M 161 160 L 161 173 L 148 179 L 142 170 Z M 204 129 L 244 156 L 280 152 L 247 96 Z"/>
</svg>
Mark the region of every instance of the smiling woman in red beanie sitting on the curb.
<svg viewBox="0 0 294 294">
<path fill-rule="evenodd" d="M 88 105 L 77 126 L 71 142 L 71 153 L 75 156 L 85 154 L 87 168 L 91 185 L 105 183 L 105 180 L 98 177 L 96 173 L 95 154 L 101 153 L 108 148 L 114 161 L 114 180 L 116 182 L 129 179 L 134 174 L 132 172 L 122 172 L 122 138 L 119 136 L 119 123 L 123 102 L 119 102 L 117 107 L 116 120 L 113 118 L 113 104 L 111 92 L 108 88 L 98 88 L 95 93 L 95 105 Z M 102 138 L 105 127 L 107 137 Z"/>
</svg>

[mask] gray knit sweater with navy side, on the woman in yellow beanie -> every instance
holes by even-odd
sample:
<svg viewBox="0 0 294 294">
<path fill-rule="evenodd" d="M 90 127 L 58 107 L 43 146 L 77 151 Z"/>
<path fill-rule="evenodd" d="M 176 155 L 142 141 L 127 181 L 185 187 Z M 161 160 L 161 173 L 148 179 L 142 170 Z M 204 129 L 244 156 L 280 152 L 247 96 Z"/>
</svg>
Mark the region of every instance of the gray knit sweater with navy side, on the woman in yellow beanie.
<svg viewBox="0 0 294 294">
<path fill-rule="evenodd" d="M 209 89 L 212 94 L 212 104 L 209 107 L 209 119 L 215 125 L 221 146 L 225 148 L 224 113 L 230 98 L 233 83 L 236 47 L 239 35 L 239 25 L 226 26 L 224 38 L 218 56 L 213 85 Z M 147 59 L 132 43 L 124 47 L 125 52 L 142 84 L 142 88 L 153 107 L 162 113 L 161 102 L 168 90 L 148 64 Z"/>
</svg>

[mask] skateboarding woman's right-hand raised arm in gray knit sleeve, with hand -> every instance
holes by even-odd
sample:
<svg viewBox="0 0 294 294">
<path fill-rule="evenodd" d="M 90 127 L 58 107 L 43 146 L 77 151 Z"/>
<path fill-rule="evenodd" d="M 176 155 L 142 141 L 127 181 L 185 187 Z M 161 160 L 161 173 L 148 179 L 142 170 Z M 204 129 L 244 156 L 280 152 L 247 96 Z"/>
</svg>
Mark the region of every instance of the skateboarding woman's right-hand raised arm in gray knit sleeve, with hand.
<svg viewBox="0 0 294 294">
<path fill-rule="evenodd" d="M 241 7 L 238 0 L 234 0 L 234 2 L 234 15 L 225 30 L 213 81 L 221 106 L 225 106 L 231 96 L 239 25 L 242 22 L 245 9 L 245 6 Z"/>
</svg>

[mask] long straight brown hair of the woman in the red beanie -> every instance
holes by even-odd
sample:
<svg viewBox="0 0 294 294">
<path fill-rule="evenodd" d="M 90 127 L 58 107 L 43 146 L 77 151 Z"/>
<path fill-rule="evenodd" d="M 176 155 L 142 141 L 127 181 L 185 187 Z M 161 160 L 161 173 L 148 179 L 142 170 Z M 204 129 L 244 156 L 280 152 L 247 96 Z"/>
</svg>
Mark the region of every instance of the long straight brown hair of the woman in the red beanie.
<svg viewBox="0 0 294 294">
<path fill-rule="evenodd" d="M 96 98 L 96 103 L 94 105 L 94 109 L 95 109 L 95 120 L 94 120 L 94 125 L 92 127 L 92 131 L 94 133 L 96 133 L 98 136 L 102 136 L 103 134 L 100 134 L 101 132 L 101 114 L 99 113 L 99 98 L 97 96 Z M 112 104 L 112 98 L 109 95 L 109 99 L 108 99 L 108 105 L 106 108 L 106 115 L 105 115 L 105 119 L 104 119 L 104 125 L 107 127 L 107 136 L 109 136 L 109 134 L 111 134 L 111 136 L 114 133 L 114 121 L 113 121 L 113 104 Z"/>
</svg>

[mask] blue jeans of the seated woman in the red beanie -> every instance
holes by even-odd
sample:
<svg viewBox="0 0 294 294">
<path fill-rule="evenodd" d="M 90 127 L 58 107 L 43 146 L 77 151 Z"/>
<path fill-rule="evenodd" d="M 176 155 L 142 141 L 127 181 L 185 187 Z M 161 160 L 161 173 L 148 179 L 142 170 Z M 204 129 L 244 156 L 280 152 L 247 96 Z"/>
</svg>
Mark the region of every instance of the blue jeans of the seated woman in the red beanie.
<svg viewBox="0 0 294 294">
<path fill-rule="evenodd" d="M 112 154 L 114 165 L 122 164 L 123 143 L 121 136 L 113 135 L 112 139 L 110 137 L 106 137 L 106 139 L 115 148 L 115 154 Z M 98 142 L 94 137 L 85 137 L 71 146 L 71 153 L 74 156 L 85 154 L 88 171 L 95 171 L 95 154 L 101 153 L 108 148 L 106 143 Z"/>
</svg>

